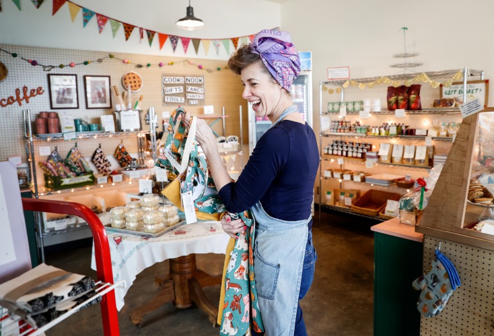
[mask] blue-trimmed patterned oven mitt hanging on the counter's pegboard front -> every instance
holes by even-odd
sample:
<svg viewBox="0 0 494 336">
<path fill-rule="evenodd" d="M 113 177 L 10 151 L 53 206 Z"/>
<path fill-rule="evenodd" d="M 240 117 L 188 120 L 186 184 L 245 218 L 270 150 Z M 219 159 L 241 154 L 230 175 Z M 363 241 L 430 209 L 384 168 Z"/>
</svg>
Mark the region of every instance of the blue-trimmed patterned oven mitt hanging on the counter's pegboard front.
<svg viewBox="0 0 494 336">
<path fill-rule="evenodd" d="M 415 290 L 421 291 L 417 301 L 420 314 L 425 317 L 438 315 L 460 285 L 460 276 L 451 261 L 436 250 L 429 269 L 412 283 Z"/>
</svg>

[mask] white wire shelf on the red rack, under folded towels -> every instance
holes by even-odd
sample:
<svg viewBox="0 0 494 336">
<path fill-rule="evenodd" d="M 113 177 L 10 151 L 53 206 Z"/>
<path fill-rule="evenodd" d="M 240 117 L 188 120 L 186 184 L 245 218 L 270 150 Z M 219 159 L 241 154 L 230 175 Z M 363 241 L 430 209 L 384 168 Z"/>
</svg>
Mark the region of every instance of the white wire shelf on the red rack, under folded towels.
<svg viewBox="0 0 494 336">
<path fill-rule="evenodd" d="M 13 311 L 10 311 L 8 309 L 2 310 L 2 313 L 0 314 L 0 323 L 2 325 L 2 334 L 5 335 L 19 335 L 19 336 L 38 336 L 38 335 L 44 335 L 44 332 L 50 329 L 51 327 L 59 324 L 63 320 L 67 319 L 67 317 L 74 315 L 77 313 L 80 309 L 83 309 L 85 305 L 89 304 L 93 300 L 102 297 L 103 295 L 109 293 L 110 291 L 114 290 L 115 288 L 126 288 L 127 284 L 125 280 L 120 280 L 116 282 L 115 284 L 110 284 L 110 282 L 102 282 L 98 281 L 96 282 L 95 286 L 97 287 L 95 289 L 96 294 L 85 300 L 84 302 L 80 303 L 79 305 L 75 306 L 74 308 L 71 308 L 67 310 L 65 313 L 62 315 L 58 316 L 55 320 L 45 324 L 44 326 L 34 329 L 31 327 L 28 323 L 24 321 L 24 319 L 16 314 Z M 1 307 L 1 306 L 0 306 Z"/>
</svg>

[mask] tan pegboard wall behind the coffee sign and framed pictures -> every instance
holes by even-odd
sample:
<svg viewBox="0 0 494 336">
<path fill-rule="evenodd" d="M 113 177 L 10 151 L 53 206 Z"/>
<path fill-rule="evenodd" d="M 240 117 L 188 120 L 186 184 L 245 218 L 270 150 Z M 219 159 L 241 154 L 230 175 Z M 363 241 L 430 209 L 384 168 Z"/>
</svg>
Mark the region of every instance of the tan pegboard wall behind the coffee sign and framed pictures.
<svg viewBox="0 0 494 336">
<path fill-rule="evenodd" d="M 22 92 L 23 86 L 27 86 L 28 91 L 41 86 L 44 93 L 33 97 L 29 103 L 22 102 L 19 106 L 16 102 L 7 107 L 0 107 L 2 122 L 0 122 L 0 161 L 5 161 L 9 156 L 21 155 L 22 162 L 27 162 L 26 157 L 26 140 L 24 139 L 23 117 L 22 110 L 30 109 L 32 121 L 41 111 L 62 111 L 51 110 L 49 102 L 49 87 L 47 74 L 75 74 L 77 75 L 77 92 L 79 99 L 79 109 L 63 110 L 73 113 L 74 118 L 81 118 L 88 123 L 100 123 L 99 117 L 104 114 L 113 114 L 113 109 L 96 109 L 87 110 L 84 99 L 84 78 L 83 76 L 110 76 L 111 85 L 117 85 L 120 92 L 123 91 L 121 78 L 129 71 L 134 71 L 140 74 L 143 78 L 143 88 L 136 93 L 132 93 L 132 101 L 139 99 L 140 95 L 144 95 L 142 108 L 147 111 L 149 107 L 154 107 L 158 117 L 158 125 L 162 125 L 162 112 L 172 112 L 175 107 L 163 104 L 162 95 L 162 76 L 168 75 L 189 75 L 189 76 L 204 76 L 205 78 L 205 105 L 214 105 L 214 115 L 221 115 L 222 107 L 225 107 L 225 114 L 230 116 L 226 118 L 226 135 L 240 136 L 239 126 L 239 106 L 243 109 L 243 139 L 244 143 L 248 142 L 248 118 L 246 101 L 242 99 L 242 89 L 240 79 L 237 78 L 230 70 L 226 69 L 226 61 L 219 60 L 202 60 L 193 59 L 193 64 L 184 58 L 171 58 L 163 56 L 136 55 L 136 54 L 121 54 L 111 52 L 120 59 L 129 59 L 135 64 L 124 64 L 117 59 L 104 59 L 102 62 L 92 62 L 87 65 L 77 65 L 76 67 L 56 67 L 50 72 L 45 72 L 41 66 L 32 66 L 28 62 L 23 61 L 20 57 L 37 60 L 40 64 L 68 64 L 70 62 L 84 62 L 86 60 L 97 60 L 108 56 L 108 52 L 102 51 L 87 51 L 73 49 L 55 49 L 31 46 L 18 46 L 0 44 L 2 49 L 9 52 L 15 52 L 18 57 L 14 58 L 5 52 L 0 52 L 0 62 L 4 63 L 8 69 L 7 78 L 0 82 L 0 99 L 6 99 L 9 96 L 15 97 L 15 90 L 20 89 Z M 168 62 L 174 62 L 173 65 L 168 65 Z M 191 60 L 192 61 L 192 60 Z M 158 63 L 163 62 L 163 67 L 158 66 Z M 151 66 L 146 65 L 150 63 Z M 144 67 L 136 68 L 136 64 L 143 64 Z M 198 65 L 203 65 L 203 69 L 199 69 Z M 220 70 L 218 70 L 218 68 Z M 207 72 L 206 69 L 213 69 L 212 72 Z M 113 108 L 115 101 L 112 98 Z M 202 105 L 188 106 L 183 105 L 192 115 L 202 115 Z M 146 113 L 142 113 L 144 119 Z M 149 130 L 149 125 L 146 125 L 142 120 L 142 125 L 145 130 Z M 34 127 L 34 122 L 33 122 Z M 221 135 L 222 123 L 217 122 L 214 130 Z M 115 147 L 123 141 L 130 153 L 137 152 L 137 137 L 119 137 L 119 138 L 89 138 L 79 139 L 78 147 L 86 158 L 91 158 L 94 150 L 99 144 L 107 156 L 113 156 Z M 73 142 L 63 142 L 62 140 L 51 142 L 37 142 L 36 147 L 50 146 L 51 150 L 58 146 L 60 155 L 65 156 L 68 149 L 74 145 Z M 38 149 L 36 149 L 36 160 L 40 160 Z"/>
</svg>

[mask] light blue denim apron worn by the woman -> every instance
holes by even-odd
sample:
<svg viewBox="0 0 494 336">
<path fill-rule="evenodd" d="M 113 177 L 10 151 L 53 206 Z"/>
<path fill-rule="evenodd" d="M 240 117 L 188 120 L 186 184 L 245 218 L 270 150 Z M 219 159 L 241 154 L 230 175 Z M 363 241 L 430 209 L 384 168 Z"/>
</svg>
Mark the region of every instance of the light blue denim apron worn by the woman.
<svg viewBox="0 0 494 336">
<path fill-rule="evenodd" d="M 296 105 L 288 108 L 273 124 L 289 113 L 298 113 Z M 284 221 L 269 216 L 260 202 L 252 208 L 256 221 L 254 272 L 259 310 L 266 336 L 290 336 L 294 333 L 298 294 L 302 280 L 308 237 L 305 220 Z"/>
</svg>

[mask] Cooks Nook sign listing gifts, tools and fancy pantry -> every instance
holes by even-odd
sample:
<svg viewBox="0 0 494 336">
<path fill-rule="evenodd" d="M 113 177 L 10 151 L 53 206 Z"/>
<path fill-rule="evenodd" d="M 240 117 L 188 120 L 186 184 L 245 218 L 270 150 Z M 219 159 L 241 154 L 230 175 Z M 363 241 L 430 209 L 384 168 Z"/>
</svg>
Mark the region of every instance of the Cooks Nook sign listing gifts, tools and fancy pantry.
<svg viewBox="0 0 494 336">
<path fill-rule="evenodd" d="M 164 105 L 204 105 L 204 76 L 163 75 Z"/>
</svg>

